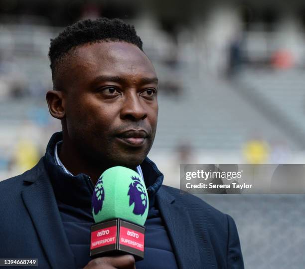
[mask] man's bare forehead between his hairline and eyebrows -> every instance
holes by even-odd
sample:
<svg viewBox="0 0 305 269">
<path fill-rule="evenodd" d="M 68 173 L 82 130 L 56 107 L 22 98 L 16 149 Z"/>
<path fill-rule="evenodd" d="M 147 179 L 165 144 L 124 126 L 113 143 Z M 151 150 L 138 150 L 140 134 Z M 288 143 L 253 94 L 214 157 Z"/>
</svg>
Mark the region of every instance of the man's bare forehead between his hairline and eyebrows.
<svg viewBox="0 0 305 269">
<path fill-rule="evenodd" d="M 136 45 L 127 42 L 97 42 L 77 47 L 70 68 L 83 79 L 99 75 L 116 75 L 136 78 L 154 77 L 150 59 Z"/>
</svg>

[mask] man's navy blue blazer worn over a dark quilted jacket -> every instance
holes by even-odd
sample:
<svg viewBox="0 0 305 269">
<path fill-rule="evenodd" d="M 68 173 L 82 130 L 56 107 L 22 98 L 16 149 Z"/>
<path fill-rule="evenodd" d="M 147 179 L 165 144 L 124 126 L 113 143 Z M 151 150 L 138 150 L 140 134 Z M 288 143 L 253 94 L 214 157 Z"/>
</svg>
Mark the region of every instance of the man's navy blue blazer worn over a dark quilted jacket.
<svg viewBox="0 0 305 269">
<path fill-rule="evenodd" d="M 179 268 L 244 268 L 230 216 L 164 185 L 156 203 Z M 0 258 L 35 258 L 42 269 L 76 268 L 43 159 L 0 182 L 0 217 Z"/>
</svg>

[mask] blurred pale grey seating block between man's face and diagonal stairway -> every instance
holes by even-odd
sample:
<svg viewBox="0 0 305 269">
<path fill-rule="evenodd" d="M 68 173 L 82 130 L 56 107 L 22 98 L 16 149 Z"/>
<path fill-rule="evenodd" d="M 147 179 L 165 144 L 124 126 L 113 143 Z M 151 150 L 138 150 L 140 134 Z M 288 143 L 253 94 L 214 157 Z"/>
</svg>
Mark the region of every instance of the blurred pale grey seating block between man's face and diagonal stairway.
<svg viewBox="0 0 305 269">
<path fill-rule="evenodd" d="M 240 151 L 258 135 L 298 149 L 298 141 L 245 101 L 235 85 L 204 74 L 198 77 L 195 71 L 188 67 L 177 75 L 183 88 L 180 96 L 165 95 L 166 89 L 160 88 L 154 148 L 175 148 L 186 141 L 197 149 Z"/>
</svg>

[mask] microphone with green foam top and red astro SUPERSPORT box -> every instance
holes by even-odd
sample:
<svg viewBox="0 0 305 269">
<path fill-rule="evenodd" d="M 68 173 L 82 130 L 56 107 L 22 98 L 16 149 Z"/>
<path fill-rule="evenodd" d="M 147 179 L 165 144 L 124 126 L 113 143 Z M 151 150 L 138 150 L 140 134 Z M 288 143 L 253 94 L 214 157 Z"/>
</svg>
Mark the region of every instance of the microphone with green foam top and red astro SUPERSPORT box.
<svg viewBox="0 0 305 269">
<path fill-rule="evenodd" d="M 149 200 L 145 183 L 132 169 L 107 169 L 92 196 L 90 257 L 131 254 L 144 259 L 145 227 Z"/>
</svg>

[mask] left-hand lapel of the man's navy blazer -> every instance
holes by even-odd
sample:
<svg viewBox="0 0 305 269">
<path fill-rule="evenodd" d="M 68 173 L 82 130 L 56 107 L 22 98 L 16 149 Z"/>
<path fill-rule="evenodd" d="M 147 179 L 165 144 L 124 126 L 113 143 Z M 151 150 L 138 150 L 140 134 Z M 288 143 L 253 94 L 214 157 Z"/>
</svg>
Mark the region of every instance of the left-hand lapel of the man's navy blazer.
<svg viewBox="0 0 305 269">
<path fill-rule="evenodd" d="M 22 191 L 21 196 L 51 268 L 76 268 L 74 256 L 59 215 L 53 188 L 44 169 L 42 159 L 33 170 L 36 170 L 37 176 L 35 178 L 29 178 L 28 176 L 24 180 L 32 184 Z M 35 175 L 33 170 L 32 173 L 29 173 L 30 175 Z"/>
</svg>

